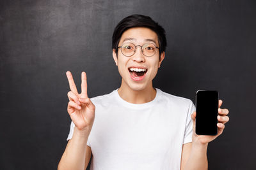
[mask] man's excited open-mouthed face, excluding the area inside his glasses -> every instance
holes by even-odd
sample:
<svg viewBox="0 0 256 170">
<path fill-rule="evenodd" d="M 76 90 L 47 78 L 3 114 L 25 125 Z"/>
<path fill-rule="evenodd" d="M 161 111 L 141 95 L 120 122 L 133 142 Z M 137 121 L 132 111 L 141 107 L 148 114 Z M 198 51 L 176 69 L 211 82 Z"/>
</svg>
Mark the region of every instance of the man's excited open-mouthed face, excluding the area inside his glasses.
<svg viewBox="0 0 256 170">
<path fill-rule="evenodd" d="M 134 27 L 128 29 L 122 34 L 118 46 L 124 43 L 133 43 L 134 45 L 143 46 L 145 43 L 153 43 L 159 46 L 157 34 L 151 29 L 145 27 Z M 116 57 L 113 49 L 113 59 L 115 60 L 118 71 L 122 76 L 122 85 L 131 88 L 132 90 L 143 90 L 147 87 L 152 87 L 152 80 L 157 74 L 157 70 L 164 59 L 164 52 L 159 59 L 159 50 L 150 57 L 143 55 L 140 46 L 137 46 L 136 52 L 131 57 L 126 57 L 121 48 L 118 48 L 118 57 Z M 143 69 L 145 73 L 138 73 L 138 69 Z M 137 74 L 138 73 L 138 74 Z M 143 74 L 143 76 L 141 76 Z"/>
</svg>

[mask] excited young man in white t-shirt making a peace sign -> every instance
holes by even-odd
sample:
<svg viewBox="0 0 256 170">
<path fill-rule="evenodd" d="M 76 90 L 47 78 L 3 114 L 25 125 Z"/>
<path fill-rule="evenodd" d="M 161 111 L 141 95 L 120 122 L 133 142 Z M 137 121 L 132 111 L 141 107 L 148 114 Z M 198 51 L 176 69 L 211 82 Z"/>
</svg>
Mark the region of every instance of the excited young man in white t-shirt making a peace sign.
<svg viewBox="0 0 256 170">
<path fill-rule="evenodd" d="M 89 99 L 86 73 L 78 94 L 67 72 L 72 124 L 58 169 L 86 169 L 91 153 L 90 169 L 207 169 L 207 145 L 223 132 L 228 110 L 219 109 L 216 136 L 198 136 L 192 101 L 153 87 L 166 38 L 150 17 L 124 18 L 112 44 L 119 89 Z"/>
</svg>

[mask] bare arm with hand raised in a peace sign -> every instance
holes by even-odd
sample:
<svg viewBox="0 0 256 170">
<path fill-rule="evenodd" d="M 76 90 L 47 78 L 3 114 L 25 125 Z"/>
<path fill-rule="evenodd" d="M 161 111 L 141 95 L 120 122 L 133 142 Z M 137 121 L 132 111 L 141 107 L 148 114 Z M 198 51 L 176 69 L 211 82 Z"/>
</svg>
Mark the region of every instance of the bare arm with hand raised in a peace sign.
<svg viewBox="0 0 256 170">
<path fill-rule="evenodd" d="M 88 136 L 92 130 L 95 117 L 95 106 L 87 95 L 86 73 L 82 73 L 81 94 L 78 94 L 72 74 L 67 71 L 67 78 L 70 86 L 68 92 L 68 114 L 74 122 L 74 132 L 72 139 L 68 141 L 65 152 L 63 153 L 59 170 L 85 169 L 92 151 L 88 147 Z"/>
</svg>

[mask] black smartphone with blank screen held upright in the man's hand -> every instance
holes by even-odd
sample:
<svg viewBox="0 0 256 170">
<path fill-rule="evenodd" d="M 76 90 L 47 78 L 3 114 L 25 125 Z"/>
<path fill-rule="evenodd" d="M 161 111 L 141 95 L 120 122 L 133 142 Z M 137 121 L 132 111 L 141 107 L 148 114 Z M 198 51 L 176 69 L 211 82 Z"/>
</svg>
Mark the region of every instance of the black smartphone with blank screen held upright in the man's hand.
<svg viewBox="0 0 256 170">
<path fill-rule="evenodd" d="M 216 90 L 196 92 L 196 134 L 216 135 L 218 133 L 219 94 Z"/>
</svg>

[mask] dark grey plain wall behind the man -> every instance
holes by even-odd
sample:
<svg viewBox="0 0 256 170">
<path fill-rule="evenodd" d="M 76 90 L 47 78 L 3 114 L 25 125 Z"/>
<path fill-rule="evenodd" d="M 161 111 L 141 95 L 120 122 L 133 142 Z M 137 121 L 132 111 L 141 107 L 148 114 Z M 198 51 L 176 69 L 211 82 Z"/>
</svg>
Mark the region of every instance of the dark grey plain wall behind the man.
<svg viewBox="0 0 256 170">
<path fill-rule="evenodd" d="M 120 85 L 115 25 L 149 15 L 168 48 L 154 87 L 195 102 L 216 89 L 230 110 L 209 143 L 209 169 L 255 167 L 256 1 L 0 1 L 0 169 L 56 169 L 67 145 L 68 81 L 88 74 L 89 97 Z"/>
</svg>

